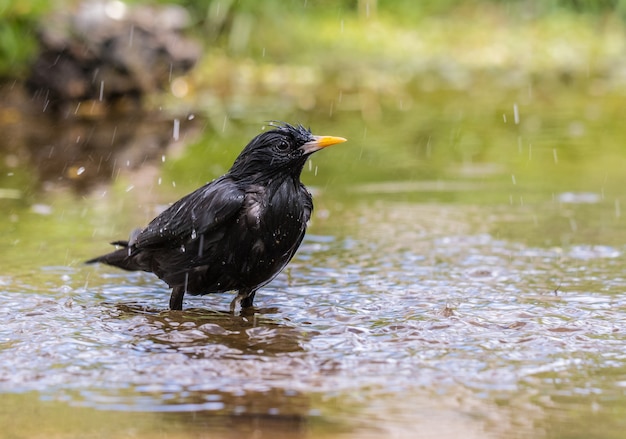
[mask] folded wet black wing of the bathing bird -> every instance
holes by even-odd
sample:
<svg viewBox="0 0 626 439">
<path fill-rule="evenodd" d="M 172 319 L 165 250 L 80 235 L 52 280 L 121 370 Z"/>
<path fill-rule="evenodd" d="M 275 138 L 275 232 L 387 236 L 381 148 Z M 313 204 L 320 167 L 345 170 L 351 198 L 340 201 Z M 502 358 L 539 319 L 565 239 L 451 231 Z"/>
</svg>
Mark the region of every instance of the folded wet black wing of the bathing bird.
<svg viewBox="0 0 626 439">
<path fill-rule="evenodd" d="M 131 239 L 133 250 L 171 248 L 206 234 L 232 218 L 243 205 L 244 191 L 227 177 L 181 198 Z"/>
</svg>

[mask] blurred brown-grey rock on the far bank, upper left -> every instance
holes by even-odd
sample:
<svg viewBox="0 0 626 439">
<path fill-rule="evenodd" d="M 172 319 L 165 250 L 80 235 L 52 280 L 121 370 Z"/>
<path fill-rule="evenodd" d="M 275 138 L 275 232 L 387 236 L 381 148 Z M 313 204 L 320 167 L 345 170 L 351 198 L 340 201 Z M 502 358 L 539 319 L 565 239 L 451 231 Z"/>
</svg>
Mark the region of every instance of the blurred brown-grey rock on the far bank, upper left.
<svg viewBox="0 0 626 439">
<path fill-rule="evenodd" d="M 182 33 L 189 24 L 180 6 L 87 1 L 41 24 L 29 87 L 50 109 L 84 100 L 139 103 L 195 65 L 201 48 Z"/>
</svg>

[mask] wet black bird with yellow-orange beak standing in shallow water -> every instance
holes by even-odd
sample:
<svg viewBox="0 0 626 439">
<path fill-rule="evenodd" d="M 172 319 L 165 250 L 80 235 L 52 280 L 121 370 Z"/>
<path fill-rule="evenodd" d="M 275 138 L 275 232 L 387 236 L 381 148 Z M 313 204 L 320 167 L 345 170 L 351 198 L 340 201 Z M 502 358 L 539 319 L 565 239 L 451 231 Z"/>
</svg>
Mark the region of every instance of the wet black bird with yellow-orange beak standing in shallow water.
<svg viewBox="0 0 626 439">
<path fill-rule="evenodd" d="M 251 307 L 256 291 L 291 260 L 302 242 L 313 199 L 300 182 L 307 158 L 342 137 L 314 136 L 302 125 L 272 124 L 243 149 L 230 170 L 181 198 L 122 248 L 91 259 L 156 274 L 171 288 L 170 309 L 185 293 L 237 290 Z"/>
</svg>

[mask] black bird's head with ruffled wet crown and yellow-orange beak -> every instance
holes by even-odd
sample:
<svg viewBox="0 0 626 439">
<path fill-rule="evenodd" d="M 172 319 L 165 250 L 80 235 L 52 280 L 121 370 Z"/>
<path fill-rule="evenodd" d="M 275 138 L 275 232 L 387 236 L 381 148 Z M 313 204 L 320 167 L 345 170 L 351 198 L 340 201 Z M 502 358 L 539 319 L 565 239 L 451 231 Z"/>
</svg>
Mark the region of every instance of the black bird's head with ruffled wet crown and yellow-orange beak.
<svg viewBox="0 0 626 439">
<path fill-rule="evenodd" d="M 233 177 L 299 176 L 315 151 L 346 141 L 343 137 L 314 136 L 302 125 L 272 122 L 270 126 L 273 129 L 256 136 L 241 151 L 229 172 Z"/>
</svg>

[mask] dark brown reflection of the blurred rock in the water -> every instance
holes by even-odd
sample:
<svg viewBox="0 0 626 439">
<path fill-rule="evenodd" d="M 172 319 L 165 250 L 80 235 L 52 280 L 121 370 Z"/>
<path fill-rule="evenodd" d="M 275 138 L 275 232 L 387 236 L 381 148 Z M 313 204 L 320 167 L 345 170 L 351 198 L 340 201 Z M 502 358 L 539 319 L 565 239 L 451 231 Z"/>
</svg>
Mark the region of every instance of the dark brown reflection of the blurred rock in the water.
<svg viewBox="0 0 626 439">
<path fill-rule="evenodd" d="M 33 183 L 44 188 L 61 185 L 86 193 L 128 171 L 139 174 L 139 181 L 141 175 L 152 178 L 156 170 L 149 165 L 160 163 L 165 150 L 197 125 L 193 118 L 98 101 L 79 103 L 63 116 L 43 112 L 23 93 L 0 91 L 0 129 L 11 133 L 0 154 L 10 169 L 34 170 Z"/>
</svg>

